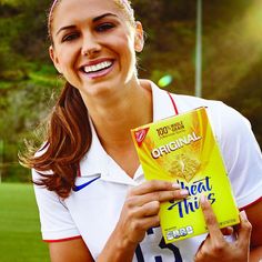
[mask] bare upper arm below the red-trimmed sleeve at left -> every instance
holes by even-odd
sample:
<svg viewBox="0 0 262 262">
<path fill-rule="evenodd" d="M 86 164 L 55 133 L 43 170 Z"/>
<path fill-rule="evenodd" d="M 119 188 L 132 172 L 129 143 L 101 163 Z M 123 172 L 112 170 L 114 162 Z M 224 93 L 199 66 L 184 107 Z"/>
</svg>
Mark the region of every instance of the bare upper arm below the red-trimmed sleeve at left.
<svg viewBox="0 0 262 262">
<path fill-rule="evenodd" d="M 83 240 L 75 239 L 69 241 L 49 243 L 51 262 L 93 262 L 89 249 Z"/>
</svg>

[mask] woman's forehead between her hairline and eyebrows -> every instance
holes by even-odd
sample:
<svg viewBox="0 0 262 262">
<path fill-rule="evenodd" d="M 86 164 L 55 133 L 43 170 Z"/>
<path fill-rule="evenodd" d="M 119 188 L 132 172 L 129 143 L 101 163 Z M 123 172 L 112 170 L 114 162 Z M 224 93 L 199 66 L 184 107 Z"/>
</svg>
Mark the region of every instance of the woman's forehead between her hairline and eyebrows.
<svg viewBox="0 0 262 262">
<path fill-rule="evenodd" d="M 53 28 L 92 20 L 103 13 L 113 13 L 123 18 L 121 9 L 114 0 L 61 0 L 54 9 Z"/>
</svg>

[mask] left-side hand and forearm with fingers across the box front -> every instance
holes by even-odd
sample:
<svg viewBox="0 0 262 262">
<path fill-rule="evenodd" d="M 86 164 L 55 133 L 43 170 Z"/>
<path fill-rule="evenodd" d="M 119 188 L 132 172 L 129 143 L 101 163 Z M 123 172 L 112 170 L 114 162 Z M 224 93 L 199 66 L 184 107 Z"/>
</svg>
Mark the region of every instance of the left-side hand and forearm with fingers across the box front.
<svg viewBox="0 0 262 262">
<path fill-rule="evenodd" d="M 129 190 L 119 221 L 98 262 L 132 261 L 138 244 L 147 230 L 158 226 L 160 203 L 189 195 L 179 184 L 165 181 L 147 181 Z"/>
</svg>

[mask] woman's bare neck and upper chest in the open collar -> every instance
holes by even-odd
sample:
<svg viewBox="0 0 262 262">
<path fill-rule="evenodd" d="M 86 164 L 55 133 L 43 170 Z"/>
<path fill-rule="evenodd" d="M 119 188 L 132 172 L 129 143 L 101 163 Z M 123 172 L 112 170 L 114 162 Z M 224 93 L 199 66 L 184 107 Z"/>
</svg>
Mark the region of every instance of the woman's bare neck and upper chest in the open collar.
<svg viewBox="0 0 262 262">
<path fill-rule="evenodd" d="M 120 95 L 84 102 L 104 150 L 133 177 L 139 160 L 130 130 L 152 122 L 152 94 L 148 82 L 138 82 L 118 92 Z"/>
</svg>

